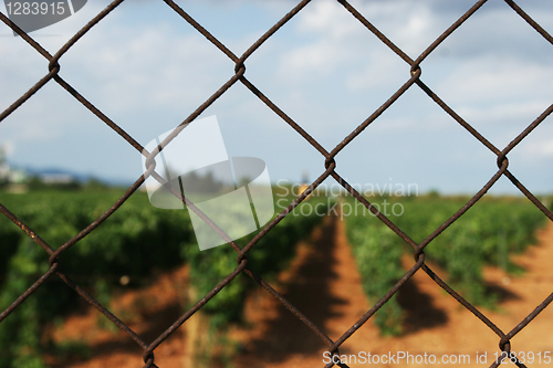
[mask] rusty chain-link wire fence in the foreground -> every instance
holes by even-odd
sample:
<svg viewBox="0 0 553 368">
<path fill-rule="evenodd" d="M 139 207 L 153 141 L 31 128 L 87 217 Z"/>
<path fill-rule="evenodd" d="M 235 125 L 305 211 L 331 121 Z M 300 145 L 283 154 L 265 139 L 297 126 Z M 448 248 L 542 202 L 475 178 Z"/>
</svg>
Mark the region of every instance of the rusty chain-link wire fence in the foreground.
<svg viewBox="0 0 553 368">
<path fill-rule="evenodd" d="M 532 319 L 538 316 L 552 301 L 553 293 L 549 295 L 535 309 L 529 314 L 523 320 L 520 322 L 509 332 L 503 332 L 500 329 L 492 320 L 490 320 L 484 314 L 482 314 L 478 308 L 468 303 L 462 296 L 460 296 L 455 290 L 449 287 L 442 280 L 440 280 L 432 270 L 425 263 L 425 248 L 444 230 L 446 230 L 451 223 L 459 219 L 469 208 L 471 208 L 482 196 L 500 179 L 500 177 L 507 177 L 526 198 L 529 198 L 551 221 L 553 221 L 553 213 L 547 210 L 543 203 L 541 203 L 534 194 L 532 194 L 522 182 L 520 182 L 510 171 L 509 171 L 509 160 L 508 154 L 517 147 L 532 130 L 538 127 L 553 111 L 553 105 L 550 105 L 535 120 L 533 120 L 519 136 L 513 139 L 507 147 L 500 149 L 487 140 L 477 129 L 474 129 L 469 123 L 467 123 L 461 116 L 459 116 L 451 107 L 449 107 L 445 101 L 442 101 L 436 93 L 432 92 L 421 80 L 421 63 L 422 61 L 432 53 L 436 48 L 446 40 L 452 32 L 455 32 L 459 27 L 461 27 L 470 17 L 472 17 L 486 2 L 487 0 L 481 0 L 476 2 L 461 18 L 459 18 L 453 24 L 451 24 L 436 41 L 434 41 L 428 48 L 416 59 L 413 60 L 398 46 L 396 46 L 385 34 L 383 34 L 376 27 L 374 27 L 368 19 L 362 15 L 352 4 L 345 0 L 337 0 L 337 2 L 343 6 L 344 10 L 352 14 L 352 22 L 361 22 L 368 32 L 375 34 L 386 46 L 388 46 L 398 57 L 404 60 L 410 66 L 410 73 L 407 75 L 407 80 L 403 86 L 395 92 L 384 105 L 376 109 L 371 116 L 368 116 L 364 122 L 362 122 L 343 141 L 341 141 L 334 149 L 327 151 L 324 149 L 307 132 L 305 132 L 300 124 L 294 122 L 285 112 L 280 109 L 268 96 L 265 96 L 261 91 L 259 91 L 246 76 L 246 63 L 248 57 L 250 57 L 269 38 L 271 38 L 275 32 L 278 32 L 282 27 L 286 24 L 293 17 L 298 15 L 309 3 L 310 0 L 304 0 L 298 3 L 288 14 L 284 15 L 278 23 L 275 23 L 270 30 L 268 30 L 257 42 L 254 42 L 242 55 L 236 55 L 231 50 L 229 50 L 225 44 L 222 44 L 218 39 L 216 39 L 208 30 L 201 27 L 197 21 L 195 21 L 184 9 L 177 6 L 171 0 L 164 0 L 165 3 L 170 7 L 176 13 L 178 13 L 184 21 L 191 24 L 199 33 L 206 36 L 216 48 L 218 48 L 223 54 L 226 54 L 230 60 L 236 63 L 234 74 L 225 83 L 219 90 L 217 90 L 206 102 L 204 102 L 197 109 L 188 116 L 175 130 L 152 153 L 147 153 L 144 147 L 135 140 L 132 136 L 125 133 L 117 124 L 115 124 L 109 117 L 104 115 L 97 107 L 95 107 L 91 102 L 88 102 L 85 96 L 80 94 L 75 88 L 73 88 L 67 82 L 65 82 L 60 75 L 60 61 L 63 55 L 79 42 L 79 40 L 86 34 L 92 28 L 98 24 L 104 18 L 108 17 L 109 13 L 117 8 L 125 0 L 113 1 L 107 8 L 105 8 L 101 13 L 98 13 L 94 19 L 92 19 L 82 30 L 74 34 L 71 40 L 64 44 L 54 55 L 51 55 L 46 50 L 44 50 L 35 40 L 22 31 L 18 25 L 10 21 L 10 19 L 0 13 L 1 20 L 8 24 L 14 32 L 17 32 L 22 40 L 24 40 L 31 48 L 36 50 L 42 56 L 48 60 L 49 72 L 38 81 L 34 86 L 32 86 L 25 94 L 23 94 L 19 99 L 17 99 L 11 106 L 3 111 L 0 115 L 0 122 L 8 117 L 15 109 L 20 108 L 34 93 L 42 88 L 46 83 L 52 82 L 52 80 L 65 88 L 79 103 L 90 109 L 94 115 L 96 115 L 102 122 L 107 124 L 115 134 L 123 137 L 129 145 L 132 145 L 138 153 L 146 155 L 147 158 L 147 171 L 144 176 L 140 176 L 105 213 L 98 217 L 88 227 L 83 229 L 79 234 L 69 240 L 65 244 L 54 250 L 45 241 L 40 238 L 40 234 L 33 232 L 25 223 L 23 223 L 15 214 L 13 214 L 9 209 L 0 204 L 0 211 L 8 217 L 13 223 L 15 223 L 23 232 L 29 235 L 32 241 L 40 245 L 50 256 L 49 264 L 50 269 L 45 272 L 36 282 L 29 287 L 29 290 L 18 297 L 6 311 L 0 315 L 0 323 L 3 322 L 15 308 L 18 308 L 25 299 L 33 294 L 42 284 L 53 275 L 60 277 L 69 287 L 73 288 L 79 295 L 82 296 L 87 303 L 93 305 L 102 314 L 104 314 L 109 320 L 112 320 L 118 328 L 124 330 L 133 340 L 136 341 L 144 349 L 144 367 L 156 367 L 154 353 L 156 348 L 163 344 L 173 333 L 177 330 L 186 320 L 198 312 L 206 303 L 208 303 L 218 292 L 226 287 L 238 274 L 244 273 L 250 276 L 255 283 L 263 287 L 268 293 L 275 297 L 282 305 L 293 313 L 299 319 L 301 319 L 316 336 L 319 336 L 324 344 L 327 346 L 327 351 L 333 355 L 338 354 L 338 348 L 344 341 L 346 341 L 357 329 L 359 329 L 398 290 L 404 285 L 416 272 L 422 270 L 426 272 L 441 288 L 449 293 L 453 298 L 456 298 L 462 306 L 469 309 L 476 317 L 478 317 L 482 323 L 484 323 L 491 330 L 493 330 L 499 338 L 499 347 L 502 351 L 510 353 L 511 344 L 510 340 L 513 336 L 520 333 L 525 326 L 528 326 Z M 505 3 L 522 19 L 524 19 L 541 36 L 549 41 L 553 45 L 553 38 L 540 25 L 538 24 L 529 14 L 524 12 L 514 1 L 504 0 Z M 538 35 L 536 35 L 538 36 Z M 298 134 L 300 134 L 305 140 L 307 140 L 316 150 L 319 150 L 324 159 L 325 170 L 319 176 L 319 178 L 311 183 L 307 190 L 300 194 L 285 210 L 283 210 L 279 215 L 276 215 L 269 224 L 262 229 L 258 235 L 255 235 L 244 248 L 238 246 L 232 240 L 223 234 L 220 230 L 220 234 L 229 240 L 228 243 L 232 246 L 238 254 L 238 265 L 232 273 L 220 281 L 220 283 L 208 294 L 204 295 L 196 305 L 194 305 L 188 312 L 180 316 L 175 323 L 167 328 L 161 335 L 159 335 L 154 341 L 144 341 L 134 330 L 126 326 L 117 316 L 113 315 L 105 306 L 103 306 L 98 301 L 92 297 L 87 292 L 85 292 L 79 284 L 76 284 L 70 275 L 61 271 L 60 255 L 67 251 L 71 246 L 74 246 L 81 239 L 94 231 L 103 221 L 105 221 L 111 214 L 113 214 L 117 209 L 140 187 L 145 179 L 149 176 L 156 178 L 160 183 L 165 183 L 165 180 L 155 170 L 154 158 L 159 154 L 160 147 L 165 147 L 170 140 L 173 140 L 182 129 L 185 124 L 192 122 L 197 118 L 208 106 L 210 106 L 215 101 L 217 101 L 221 95 L 223 95 L 232 85 L 236 83 L 242 83 L 248 90 L 250 90 L 259 99 L 261 99 L 269 108 L 271 108 L 276 115 L 279 115 L 282 120 L 290 125 Z M 407 90 L 411 87 L 418 87 L 424 91 L 438 106 L 440 106 L 449 116 L 451 116 L 457 123 L 459 123 L 465 129 L 467 129 L 476 139 L 478 139 L 482 145 L 490 149 L 497 156 L 498 171 L 489 179 L 489 181 L 451 218 L 449 218 L 445 223 L 437 228 L 428 238 L 422 242 L 417 243 L 411 240 L 406 233 L 404 233 L 396 224 L 394 224 L 389 219 L 387 219 L 383 213 L 378 212 L 366 198 L 364 198 L 358 191 L 356 191 L 352 186 L 349 186 L 346 180 L 344 180 L 336 171 L 336 162 L 334 157 L 346 147 L 355 137 L 363 133 L 363 130 L 371 125 L 375 119 L 377 119 L 392 104 L 394 104 Z M 359 202 L 362 202 L 367 209 L 369 209 L 380 221 L 383 221 L 388 228 L 390 228 L 397 235 L 399 235 L 405 242 L 407 242 L 413 248 L 413 255 L 415 259 L 415 264 L 410 270 L 395 284 L 395 286 L 389 290 L 386 295 L 382 297 L 373 307 L 367 311 L 349 329 L 344 332 L 344 334 L 336 340 L 331 339 L 319 326 L 313 324 L 305 315 L 302 314 L 294 305 L 288 302 L 281 294 L 279 294 L 270 284 L 268 284 L 263 278 L 253 273 L 248 266 L 248 253 L 255 252 L 255 244 L 260 239 L 262 239 L 269 231 L 271 231 L 288 213 L 290 213 L 299 203 L 301 203 L 314 189 L 316 189 L 323 180 L 326 178 L 334 178 L 343 188 L 345 188 L 351 194 L 353 194 Z M 180 193 L 175 193 L 177 197 Z M 182 199 L 185 201 L 185 199 Z M 197 208 L 192 210 L 201 214 Z M 206 221 L 210 222 L 206 219 Z M 210 223 L 210 225 L 216 229 L 217 225 Z M 323 362 L 324 364 L 324 362 Z M 497 367 L 501 362 L 494 361 L 490 367 Z M 525 367 L 522 362 L 517 360 L 517 366 Z M 334 362 L 328 362 L 325 367 L 332 367 Z M 340 367 L 347 367 L 343 362 L 338 362 Z"/>
</svg>

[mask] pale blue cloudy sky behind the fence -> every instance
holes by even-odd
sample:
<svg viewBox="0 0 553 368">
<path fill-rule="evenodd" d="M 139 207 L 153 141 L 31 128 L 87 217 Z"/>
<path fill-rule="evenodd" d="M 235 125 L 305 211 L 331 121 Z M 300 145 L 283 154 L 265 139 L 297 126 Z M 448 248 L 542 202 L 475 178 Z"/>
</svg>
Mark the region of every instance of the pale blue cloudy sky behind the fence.
<svg viewBox="0 0 553 368">
<path fill-rule="evenodd" d="M 293 1 L 177 1 L 240 55 Z M 473 1 L 352 1 L 416 59 Z M 553 33 L 553 2 L 518 1 Z M 52 54 L 98 13 L 31 33 Z M 4 11 L 3 6 L 0 9 Z M 553 46 L 503 1 L 490 0 L 421 64 L 421 80 L 502 149 L 553 103 Z M 60 75 L 142 145 L 177 126 L 233 75 L 233 63 L 163 1 L 128 0 L 61 60 Z M 247 78 L 332 150 L 409 77 L 395 55 L 336 1 L 314 0 L 247 63 Z M 48 73 L 48 62 L 0 24 L 0 111 Z M 217 115 L 229 156 L 262 158 L 272 181 L 314 180 L 324 159 L 242 84 L 202 116 Z M 12 164 L 56 167 L 134 181 L 140 155 L 50 82 L 0 123 Z M 510 155 L 510 170 L 538 193 L 553 191 L 549 117 Z M 497 171 L 495 157 L 411 87 L 336 157 L 351 183 L 409 185 L 473 193 Z M 332 183 L 333 180 L 327 181 Z M 517 189 L 500 179 L 495 193 Z"/>
</svg>

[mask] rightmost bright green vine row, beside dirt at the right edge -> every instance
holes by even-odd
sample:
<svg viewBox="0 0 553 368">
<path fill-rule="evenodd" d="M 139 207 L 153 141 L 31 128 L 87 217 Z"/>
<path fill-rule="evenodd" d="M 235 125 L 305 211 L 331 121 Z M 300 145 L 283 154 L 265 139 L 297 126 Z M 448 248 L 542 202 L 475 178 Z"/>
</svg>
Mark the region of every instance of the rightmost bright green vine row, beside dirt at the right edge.
<svg viewBox="0 0 553 368">
<path fill-rule="evenodd" d="M 416 242 L 421 242 L 466 203 L 441 198 L 406 202 L 405 213 L 394 221 Z M 482 267 L 517 267 L 509 254 L 522 252 L 535 239 L 545 217 L 520 198 L 484 198 L 453 222 L 425 249 L 428 259 L 444 266 L 448 281 L 470 302 L 493 306 L 495 295 L 483 285 Z"/>
</svg>

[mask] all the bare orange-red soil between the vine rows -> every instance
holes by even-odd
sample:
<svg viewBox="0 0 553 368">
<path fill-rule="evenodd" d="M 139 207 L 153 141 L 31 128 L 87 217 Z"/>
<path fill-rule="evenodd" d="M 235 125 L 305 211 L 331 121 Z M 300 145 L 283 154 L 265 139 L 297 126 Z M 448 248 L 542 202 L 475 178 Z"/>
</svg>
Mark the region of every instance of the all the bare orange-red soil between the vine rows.
<svg viewBox="0 0 553 368">
<path fill-rule="evenodd" d="M 507 275 L 502 270 L 488 267 L 484 278 L 488 286 L 501 295 L 495 311 L 480 308 L 504 333 L 521 323 L 553 292 L 553 224 L 538 233 L 538 245 L 513 257 L 526 272 L 521 276 Z M 411 266 L 413 259 L 406 257 Z M 446 280 L 444 272 L 432 270 Z M 113 302 L 115 315 L 128 323 L 146 341 L 154 340 L 181 313 L 187 270 L 164 274 L 153 286 L 129 291 Z M 307 318 L 333 340 L 352 327 L 371 308 L 362 290 L 355 260 L 347 244 L 344 223 L 327 218 L 315 230 L 311 241 L 299 246 L 299 254 L 286 272 L 274 282 L 275 290 L 284 295 Z M 371 301 L 375 303 L 376 301 Z M 382 337 L 369 319 L 341 347 L 348 355 L 349 367 L 363 367 L 349 355 L 369 351 L 372 355 L 410 354 L 414 357 L 435 355 L 440 364 L 444 355 L 468 355 L 470 365 L 489 367 L 499 351 L 500 338 L 472 313 L 444 292 L 424 271 L 399 291 L 399 302 L 407 313 L 406 334 L 401 337 Z M 229 337 L 239 348 L 232 357 L 232 367 L 323 367 L 326 346 L 302 322 L 282 307 L 272 296 L 259 290 L 247 301 L 248 327 L 233 328 Z M 84 314 L 66 318 L 63 327 L 51 328 L 50 336 L 56 341 L 77 339 L 91 346 L 90 360 L 67 358 L 60 361 L 52 357 L 53 367 L 143 367 L 142 349 L 124 333 L 98 327 L 98 313 L 90 308 Z M 194 323 L 190 318 L 188 323 Z M 553 355 L 553 307 L 545 308 L 528 327 L 511 339 L 512 351 L 533 353 L 534 364 L 545 367 L 544 353 Z M 184 326 L 155 350 L 158 367 L 189 367 Z M 477 361 L 476 355 L 486 354 L 487 361 Z M 541 364 L 538 354 L 541 354 Z M 357 358 L 362 357 L 358 355 Z M 553 359 L 553 357 L 552 357 Z M 420 361 L 420 360 L 419 360 Z M 374 367 L 427 367 L 430 364 L 372 364 Z M 455 366 L 455 365 L 451 365 Z"/>
</svg>

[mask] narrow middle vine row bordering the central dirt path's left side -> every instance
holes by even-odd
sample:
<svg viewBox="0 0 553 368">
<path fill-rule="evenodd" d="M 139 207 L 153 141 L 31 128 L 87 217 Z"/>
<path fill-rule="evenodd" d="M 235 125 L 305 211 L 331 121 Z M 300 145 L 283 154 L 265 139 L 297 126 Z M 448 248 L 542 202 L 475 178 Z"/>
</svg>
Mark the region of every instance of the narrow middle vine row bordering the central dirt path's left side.
<svg viewBox="0 0 553 368">
<path fill-rule="evenodd" d="M 282 196 L 276 196 L 282 197 Z M 280 203 L 288 203 L 292 198 L 280 198 Z M 300 204 L 293 212 L 289 213 L 271 231 L 269 231 L 247 253 L 248 267 L 259 274 L 263 280 L 270 281 L 278 272 L 285 269 L 295 255 L 295 246 L 300 240 L 312 233 L 313 228 L 321 221 L 322 217 L 313 210 L 319 204 L 319 213 L 325 213 L 326 198 L 310 199 Z M 279 204 L 276 206 L 276 212 Z M 309 213 L 303 215 L 302 213 Z M 262 228 L 264 224 L 260 224 Z M 240 248 L 246 246 L 255 233 L 237 240 Z M 188 307 L 208 294 L 238 267 L 237 252 L 230 245 L 221 245 L 206 251 L 199 251 L 198 246 L 182 249 L 184 257 L 190 265 L 190 287 L 194 295 Z M 198 367 L 211 367 L 216 362 L 225 362 L 232 356 L 231 345 L 226 340 L 226 330 L 231 323 L 241 322 L 247 294 L 259 285 L 246 274 L 239 274 L 211 298 L 200 312 L 200 316 L 207 317 L 208 326 L 204 333 L 209 334 L 209 343 L 202 343 L 195 349 L 195 362 Z M 198 341 L 199 343 L 199 341 Z M 213 346 L 222 347 L 219 353 L 213 353 Z M 227 361 L 228 362 L 228 361 Z"/>
</svg>

